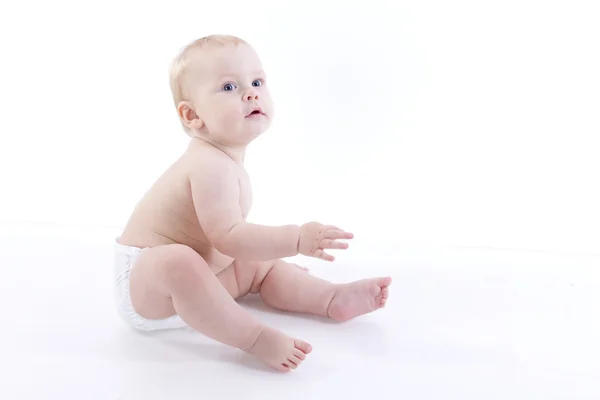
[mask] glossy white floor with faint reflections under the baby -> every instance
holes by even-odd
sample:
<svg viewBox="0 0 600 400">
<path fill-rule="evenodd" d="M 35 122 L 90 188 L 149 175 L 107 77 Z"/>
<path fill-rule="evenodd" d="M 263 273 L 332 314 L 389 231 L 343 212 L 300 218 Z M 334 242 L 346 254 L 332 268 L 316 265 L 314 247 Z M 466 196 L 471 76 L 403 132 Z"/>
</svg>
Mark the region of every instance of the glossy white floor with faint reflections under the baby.
<svg viewBox="0 0 600 400">
<path fill-rule="evenodd" d="M 390 274 L 391 297 L 342 325 L 244 301 L 314 346 L 279 374 L 192 332 L 128 330 L 112 234 L 0 229 L 0 398 L 600 398 L 598 256 L 356 242 L 336 264 L 302 260 L 335 281 Z"/>
</svg>

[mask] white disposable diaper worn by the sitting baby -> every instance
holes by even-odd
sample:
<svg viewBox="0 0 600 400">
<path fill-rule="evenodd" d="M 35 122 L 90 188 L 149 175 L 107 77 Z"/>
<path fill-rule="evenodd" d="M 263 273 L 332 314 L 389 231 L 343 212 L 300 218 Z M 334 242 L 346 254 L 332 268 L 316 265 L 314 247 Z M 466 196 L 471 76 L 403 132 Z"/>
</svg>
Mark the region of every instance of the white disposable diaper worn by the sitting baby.
<svg viewBox="0 0 600 400">
<path fill-rule="evenodd" d="M 137 257 L 144 250 L 138 247 L 124 246 L 115 241 L 115 288 L 119 315 L 132 328 L 146 332 L 186 327 L 186 323 L 178 315 L 166 319 L 153 320 L 140 316 L 133 309 L 131 296 L 129 295 L 129 274 Z"/>
</svg>

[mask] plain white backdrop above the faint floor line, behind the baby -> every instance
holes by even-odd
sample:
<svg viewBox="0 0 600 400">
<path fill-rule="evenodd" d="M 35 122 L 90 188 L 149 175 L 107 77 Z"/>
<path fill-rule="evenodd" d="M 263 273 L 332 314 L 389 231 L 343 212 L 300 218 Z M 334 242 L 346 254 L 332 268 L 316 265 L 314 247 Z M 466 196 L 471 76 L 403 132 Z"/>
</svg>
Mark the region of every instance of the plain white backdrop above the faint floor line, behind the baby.
<svg viewBox="0 0 600 400">
<path fill-rule="evenodd" d="M 349 4 L 2 2 L 0 222 L 122 227 L 187 144 L 172 57 L 228 33 L 277 106 L 252 220 L 600 253 L 597 2 Z"/>
</svg>

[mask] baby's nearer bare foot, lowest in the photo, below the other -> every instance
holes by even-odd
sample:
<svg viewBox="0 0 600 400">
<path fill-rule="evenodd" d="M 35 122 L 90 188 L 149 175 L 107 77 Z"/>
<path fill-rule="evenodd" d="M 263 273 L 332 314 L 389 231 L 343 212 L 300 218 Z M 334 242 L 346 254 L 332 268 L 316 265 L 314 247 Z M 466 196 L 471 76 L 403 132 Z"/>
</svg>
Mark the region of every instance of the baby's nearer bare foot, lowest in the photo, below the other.
<svg viewBox="0 0 600 400">
<path fill-rule="evenodd" d="M 312 346 L 269 327 L 263 328 L 249 353 L 283 372 L 296 369 L 312 351 Z"/>
</svg>

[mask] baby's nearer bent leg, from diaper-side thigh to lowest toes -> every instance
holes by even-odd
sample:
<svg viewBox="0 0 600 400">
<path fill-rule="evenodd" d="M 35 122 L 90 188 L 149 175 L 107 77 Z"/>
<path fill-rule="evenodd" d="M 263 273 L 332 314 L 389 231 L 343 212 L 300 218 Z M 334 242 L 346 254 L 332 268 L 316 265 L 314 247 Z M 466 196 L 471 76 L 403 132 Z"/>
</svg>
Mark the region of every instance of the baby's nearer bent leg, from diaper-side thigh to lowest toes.
<svg viewBox="0 0 600 400">
<path fill-rule="evenodd" d="M 202 257 L 187 246 L 145 250 L 130 280 L 133 306 L 145 318 L 178 314 L 198 332 L 254 354 L 282 371 L 296 368 L 311 351 L 304 341 L 254 319 L 235 302 Z"/>
</svg>

